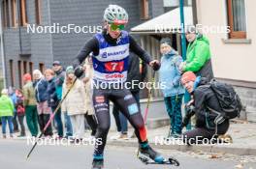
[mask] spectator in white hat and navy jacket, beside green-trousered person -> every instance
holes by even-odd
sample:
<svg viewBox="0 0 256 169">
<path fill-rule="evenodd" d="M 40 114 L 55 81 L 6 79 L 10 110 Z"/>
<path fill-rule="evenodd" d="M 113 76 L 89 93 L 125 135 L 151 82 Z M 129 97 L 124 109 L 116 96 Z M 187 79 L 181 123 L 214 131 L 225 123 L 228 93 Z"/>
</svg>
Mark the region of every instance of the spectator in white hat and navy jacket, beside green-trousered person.
<svg viewBox="0 0 256 169">
<path fill-rule="evenodd" d="M 51 114 L 51 108 L 48 106 L 48 81 L 45 79 L 44 75 L 40 70 L 33 71 L 35 88 L 35 95 L 37 100 L 37 110 L 39 115 L 39 126 L 41 131 L 44 130 L 44 127 L 48 124 L 48 120 Z M 49 126 L 44 133 L 45 136 L 52 136 L 52 128 Z"/>
</svg>

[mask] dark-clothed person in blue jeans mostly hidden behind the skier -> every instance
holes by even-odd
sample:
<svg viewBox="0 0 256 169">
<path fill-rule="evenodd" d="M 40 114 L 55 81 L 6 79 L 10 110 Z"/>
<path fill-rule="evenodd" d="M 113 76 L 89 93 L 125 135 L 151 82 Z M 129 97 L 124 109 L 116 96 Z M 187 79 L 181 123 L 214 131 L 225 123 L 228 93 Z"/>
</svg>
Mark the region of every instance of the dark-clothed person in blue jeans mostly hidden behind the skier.
<svg viewBox="0 0 256 169">
<path fill-rule="evenodd" d="M 139 83 L 144 81 L 146 75 L 146 64 L 141 62 L 140 58 L 131 52 L 129 56 L 129 68 L 127 74 L 127 87 L 132 93 L 134 99 L 140 107 L 140 88 Z M 133 84 L 133 85 L 132 85 Z M 117 135 L 112 136 L 112 139 L 128 139 L 128 123 L 126 117 L 119 113 L 119 108 L 113 104 L 112 115 L 117 127 Z"/>
</svg>

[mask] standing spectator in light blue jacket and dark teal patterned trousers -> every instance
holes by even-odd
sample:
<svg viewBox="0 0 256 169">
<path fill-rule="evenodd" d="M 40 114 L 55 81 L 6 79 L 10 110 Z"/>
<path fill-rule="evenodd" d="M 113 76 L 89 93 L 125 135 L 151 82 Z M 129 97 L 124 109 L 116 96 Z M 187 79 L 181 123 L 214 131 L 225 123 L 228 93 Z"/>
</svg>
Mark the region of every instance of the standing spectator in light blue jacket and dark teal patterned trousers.
<svg viewBox="0 0 256 169">
<path fill-rule="evenodd" d="M 160 52 L 162 53 L 161 68 L 159 70 L 159 80 L 164 85 L 162 89 L 166 110 L 170 117 L 171 127 L 168 138 L 177 137 L 181 134 L 181 104 L 184 89 L 180 84 L 180 72 L 178 70 L 182 62 L 176 50 L 172 47 L 171 39 L 161 40 Z"/>
</svg>

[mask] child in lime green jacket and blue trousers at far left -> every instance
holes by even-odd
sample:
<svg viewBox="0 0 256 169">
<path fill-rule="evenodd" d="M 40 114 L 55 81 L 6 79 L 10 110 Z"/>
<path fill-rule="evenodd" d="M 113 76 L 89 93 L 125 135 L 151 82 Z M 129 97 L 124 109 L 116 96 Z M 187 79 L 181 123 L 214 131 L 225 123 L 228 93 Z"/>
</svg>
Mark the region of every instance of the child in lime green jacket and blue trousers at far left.
<svg viewBox="0 0 256 169">
<path fill-rule="evenodd" d="M 0 98 L 0 117 L 2 121 L 2 133 L 3 138 L 6 138 L 6 125 L 8 123 L 10 130 L 10 137 L 14 134 L 13 116 L 15 106 L 13 100 L 8 97 L 8 90 L 2 90 L 2 96 Z"/>
</svg>

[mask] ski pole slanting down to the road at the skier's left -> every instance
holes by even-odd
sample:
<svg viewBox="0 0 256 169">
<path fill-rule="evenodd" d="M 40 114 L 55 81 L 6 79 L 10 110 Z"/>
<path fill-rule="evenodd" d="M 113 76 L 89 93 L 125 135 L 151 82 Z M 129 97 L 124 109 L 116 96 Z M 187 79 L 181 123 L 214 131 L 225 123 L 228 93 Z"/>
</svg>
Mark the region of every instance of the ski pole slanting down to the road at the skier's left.
<svg viewBox="0 0 256 169">
<path fill-rule="evenodd" d="M 70 91 L 71 91 L 71 89 L 73 88 L 74 84 L 76 83 L 77 79 L 78 79 L 78 78 L 76 77 L 75 80 L 74 80 L 74 82 L 73 82 L 73 84 L 71 85 L 70 89 L 69 89 L 69 90 L 67 91 L 67 93 L 64 95 L 63 99 L 61 99 L 61 100 L 59 101 L 58 106 L 56 107 L 56 109 L 54 110 L 54 112 L 50 115 L 50 118 L 49 118 L 49 120 L 48 120 L 47 125 L 44 127 L 43 131 L 41 131 L 39 137 L 37 137 L 36 142 L 35 142 L 35 144 L 33 145 L 32 149 L 29 151 L 28 155 L 26 156 L 26 159 L 29 158 L 29 156 L 32 154 L 33 150 L 36 148 L 36 146 L 37 146 L 37 144 L 38 144 L 38 139 L 40 139 L 40 138 L 43 136 L 43 134 L 46 132 L 46 130 L 47 130 L 48 126 L 50 125 L 51 121 L 53 120 L 53 118 L 54 118 L 56 112 L 57 112 L 58 109 L 60 108 L 60 106 L 61 106 L 62 102 L 64 101 L 64 99 L 67 98 L 68 94 L 70 93 Z"/>
</svg>

